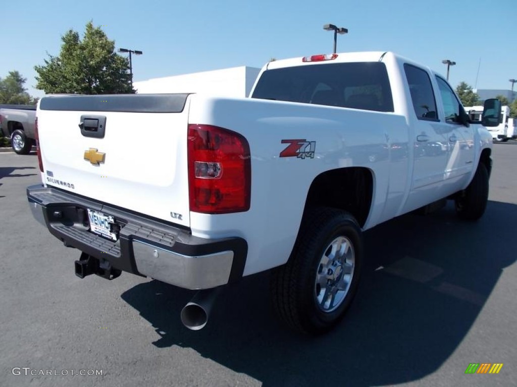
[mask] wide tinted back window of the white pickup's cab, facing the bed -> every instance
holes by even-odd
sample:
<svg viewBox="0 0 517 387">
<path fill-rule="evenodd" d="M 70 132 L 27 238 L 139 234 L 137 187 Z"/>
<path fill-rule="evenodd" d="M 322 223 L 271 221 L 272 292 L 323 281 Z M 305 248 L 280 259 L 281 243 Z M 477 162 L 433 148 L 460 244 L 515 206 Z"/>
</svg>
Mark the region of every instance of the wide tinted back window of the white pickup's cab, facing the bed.
<svg viewBox="0 0 517 387">
<path fill-rule="evenodd" d="M 265 71 L 251 98 L 393 111 L 381 62 L 325 63 Z"/>
</svg>

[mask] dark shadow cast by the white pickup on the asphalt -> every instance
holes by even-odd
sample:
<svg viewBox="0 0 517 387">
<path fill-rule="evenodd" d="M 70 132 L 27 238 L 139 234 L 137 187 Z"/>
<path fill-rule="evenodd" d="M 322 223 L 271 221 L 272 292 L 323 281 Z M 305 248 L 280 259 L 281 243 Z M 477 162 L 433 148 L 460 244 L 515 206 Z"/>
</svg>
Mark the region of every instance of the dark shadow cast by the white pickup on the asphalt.
<svg viewBox="0 0 517 387">
<path fill-rule="evenodd" d="M 196 332 L 179 318 L 194 292 L 149 281 L 121 297 L 156 328 L 155 346 L 192 348 L 265 386 L 414 381 L 451 356 L 514 262 L 508 224 L 517 224 L 517 205 L 490 201 L 477 223 L 458 220 L 449 204 L 367 231 L 358 297 L 337 329 L 321 337 L 279 324 L 268 273 L 224 289 L 207 326 Z"/>
</svg>

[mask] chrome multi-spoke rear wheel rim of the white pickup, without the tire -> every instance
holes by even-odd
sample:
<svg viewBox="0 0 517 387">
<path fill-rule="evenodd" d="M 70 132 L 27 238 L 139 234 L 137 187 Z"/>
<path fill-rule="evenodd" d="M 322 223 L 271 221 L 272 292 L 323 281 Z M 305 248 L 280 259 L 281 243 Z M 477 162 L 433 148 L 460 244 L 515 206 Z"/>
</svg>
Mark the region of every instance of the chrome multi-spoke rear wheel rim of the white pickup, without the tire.
<svg viewBox="0 0 517 387">
<path fill-rule="evenodd" d="M 354 276 L 355 252 L 350 239 L 338 236 L 328 245 L 316 271 L 314 297 L 322 312 L 333 312 L 348 293 Z"/>
</svg>

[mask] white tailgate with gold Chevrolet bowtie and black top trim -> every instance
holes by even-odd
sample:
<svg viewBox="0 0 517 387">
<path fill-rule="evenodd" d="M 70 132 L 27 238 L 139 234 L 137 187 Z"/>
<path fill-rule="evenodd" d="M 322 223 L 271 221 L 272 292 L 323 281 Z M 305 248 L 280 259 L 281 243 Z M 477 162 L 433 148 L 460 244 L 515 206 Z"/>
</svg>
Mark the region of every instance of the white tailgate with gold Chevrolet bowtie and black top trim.
<svg viewBox="0 0 517 387">
<path fill-rule="evenodd" d="M 44 183 L 189 227 L 187 98 L 44 97 L 37 112 Z"/>
</svg>

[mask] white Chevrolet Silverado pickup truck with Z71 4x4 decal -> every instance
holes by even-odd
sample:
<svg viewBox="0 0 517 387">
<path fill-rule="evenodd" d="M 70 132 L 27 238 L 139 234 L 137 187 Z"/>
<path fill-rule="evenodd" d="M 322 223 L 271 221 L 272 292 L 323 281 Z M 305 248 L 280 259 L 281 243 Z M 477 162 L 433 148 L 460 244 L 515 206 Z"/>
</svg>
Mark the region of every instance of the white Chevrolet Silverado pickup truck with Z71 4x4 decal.
<svg viewBox="0 0 517 387">
<path fill-rule="evenodd" d="M 500 111 L 486 101 L 484 126 Z M 273 269 L 278 315 L 328 331 L 356 294 L 361 233 L 446 199 L 480 218 L 492 166 L 444 77 L 389 52 L 273 61 L 250 98 L 45 96 L 38 130 L 29 205 L 82 251 L 75 273 L 204 289 L 190 329 L 222 285 Z"/>
</svg>

